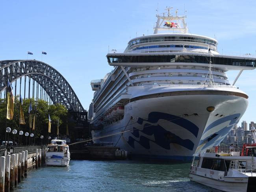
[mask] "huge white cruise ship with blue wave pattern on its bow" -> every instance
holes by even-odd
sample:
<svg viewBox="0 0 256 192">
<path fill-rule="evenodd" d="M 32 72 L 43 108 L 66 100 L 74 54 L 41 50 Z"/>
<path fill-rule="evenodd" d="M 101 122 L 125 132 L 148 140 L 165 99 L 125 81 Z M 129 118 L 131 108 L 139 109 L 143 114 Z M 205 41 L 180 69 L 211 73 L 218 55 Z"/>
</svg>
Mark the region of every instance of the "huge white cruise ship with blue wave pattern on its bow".
<svg viewBox="0 0 256 192">
<path fill-rule="evenodd" d="M 256 58 L 221 55 L 217 40 L 188 33 L 186 16 L 157 15 L 154 34 L 107 54 L 114 69 L 91 81 L 93 142 L 133 157 L 190 161 L 239 122 L 248 95 L 235 87 Z M 228 70 L 237 70 L 230 82 Z"/>
</svg>

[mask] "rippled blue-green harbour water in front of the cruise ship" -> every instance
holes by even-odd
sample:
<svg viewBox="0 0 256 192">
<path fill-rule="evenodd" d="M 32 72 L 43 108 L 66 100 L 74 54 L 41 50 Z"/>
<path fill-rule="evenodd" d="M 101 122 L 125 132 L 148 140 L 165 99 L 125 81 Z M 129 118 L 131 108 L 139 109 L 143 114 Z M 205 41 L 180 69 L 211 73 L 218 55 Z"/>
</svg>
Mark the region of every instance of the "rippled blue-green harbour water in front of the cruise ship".
<svg viewBox="0 0 256 192">
<path fill-rule="evenodd" d="M 15 192 L 220 192 L 189 180 L 191 163 L 70 161 L 28 172 Z"/>
</svg>

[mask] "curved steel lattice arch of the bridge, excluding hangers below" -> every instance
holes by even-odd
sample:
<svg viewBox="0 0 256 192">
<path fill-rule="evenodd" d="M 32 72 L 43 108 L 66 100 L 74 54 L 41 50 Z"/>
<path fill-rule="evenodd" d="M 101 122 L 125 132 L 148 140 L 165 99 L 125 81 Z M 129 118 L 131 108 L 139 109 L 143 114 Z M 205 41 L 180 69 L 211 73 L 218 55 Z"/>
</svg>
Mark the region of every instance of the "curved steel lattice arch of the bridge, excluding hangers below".
<svg viewBox="0 0 256 192">
<path fill-rule="evenodd" d="M 6 89 L 6 76 L 11 83 L 23 76 L 28 76 L 39 83 L 53 103 L 65 105 L 72 111 L 85 112 L 67 80 L 55 68 L 44 62 L 36 60 L 0 61 L 0 92 Z"/>
</svg>

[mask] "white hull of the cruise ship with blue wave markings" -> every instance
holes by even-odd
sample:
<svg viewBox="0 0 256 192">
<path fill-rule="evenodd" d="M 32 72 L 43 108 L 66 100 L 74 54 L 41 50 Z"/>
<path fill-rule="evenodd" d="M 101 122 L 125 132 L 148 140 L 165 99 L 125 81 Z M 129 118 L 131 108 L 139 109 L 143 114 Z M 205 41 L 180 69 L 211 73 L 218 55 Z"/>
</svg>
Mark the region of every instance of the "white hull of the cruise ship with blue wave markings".
<svg viewBox="0 0 256 192">
<path fill-rule="evenodd" d="M 133 157 L 190 161 L 195 151 L 217 146 L 237 124 L 247 105 L 247 98 L 216 92 L 159 94 L 126 104 L 122 120 L 92 134 L 95 138 L 128 131 L 94 142 L 119 146 Z M 209 106 L 215 110 L 208 112 Z"/>
</svg>

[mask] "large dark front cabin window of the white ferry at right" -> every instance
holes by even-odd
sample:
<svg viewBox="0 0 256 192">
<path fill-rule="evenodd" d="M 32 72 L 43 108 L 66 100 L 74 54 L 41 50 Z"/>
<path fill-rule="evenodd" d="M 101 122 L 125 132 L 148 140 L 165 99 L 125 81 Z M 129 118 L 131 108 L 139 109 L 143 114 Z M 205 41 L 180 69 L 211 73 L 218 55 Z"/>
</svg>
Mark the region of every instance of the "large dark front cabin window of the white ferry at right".
<svg viewBox="0 0 256 192">
<path fill-rule="evenodd" d="M 216 171 L 226 171 L 224 159 L 204 158 L 201 167 Z"/>
</svg>

